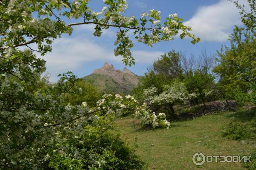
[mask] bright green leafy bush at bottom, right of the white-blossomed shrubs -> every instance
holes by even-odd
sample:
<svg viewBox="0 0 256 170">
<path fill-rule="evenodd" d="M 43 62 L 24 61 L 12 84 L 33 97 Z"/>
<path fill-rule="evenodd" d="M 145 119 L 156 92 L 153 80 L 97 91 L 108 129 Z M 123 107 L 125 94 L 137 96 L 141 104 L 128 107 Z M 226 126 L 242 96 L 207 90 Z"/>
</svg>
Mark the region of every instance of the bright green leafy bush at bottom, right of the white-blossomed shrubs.
<svg viewBox="0 0 256 170">
<path fill-rule="evenodd" d="M 61 136 L 64 139 L 62 145 L 72 143 L 73 148 L 79 150 L 74 155 L 52 150 L 49 167 L 56 170 L 143 170 L 145 165 L 134 155 L 134 150 L 112 130 L 111 120 L 99 116 L 85 127 L 81 136 L 75 136 L 74 139 Z"/>
</svg>

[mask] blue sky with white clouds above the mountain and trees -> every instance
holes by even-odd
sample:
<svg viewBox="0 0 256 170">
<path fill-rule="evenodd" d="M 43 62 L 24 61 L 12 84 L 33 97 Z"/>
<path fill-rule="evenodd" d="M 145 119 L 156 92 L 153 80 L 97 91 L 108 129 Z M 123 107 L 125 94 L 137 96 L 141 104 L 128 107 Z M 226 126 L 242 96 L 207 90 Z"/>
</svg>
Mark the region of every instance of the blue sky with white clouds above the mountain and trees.
<svg viewBox="0 0 256 170">
<path fill-rule="evenodd" d="M 232 33 L 234 25 L 240 25 L 239 10 L 227 0 L 127 0 L 126 16 L 140 17 L 140 14 L 151 9 L 161 11 L 162 18 L 177 13 L 186 25 L 192 27 L 192 33 L 201 38 L 196 45 L 190 39 L 160 42 L 153 47 L 134 41 L 132 48 L 136 64 L 128 67 L 137 75 L 143 75 L 148 66 L 161 54 L 175 49 L 186 52 L 189 57 L 197 57 L 206 49 L 209 54 L 216 54 L 221 45 L 229 45 L 228 35 Z M 245 3 L 245 0 L 239 0 Z M 89 6 L 94 11 L 101 11 L 102 0 L 91 0 Z M 69 23 L 70 21 L 67 21 Z M 77 22 L 77 21 L 76 21 Z M 47 61 L 47 72 L 50 80 L 56 81 L 59 73 L 73 71 L 78 77 L 92 74 L 93 69 L 100 68 L 105 62 L 112 63 L 115 68 L 122 70 L 125 65 L 122 57 L 115 57 L 113 50 L 116 29 L 104 31 L 102 37 L 94 37 L 93 25 L 74 26 L 71 36 L 63 35 L 54 40 L 52 52 L 43 58 Z M 132 35 L 131 35 L 132 36 Z"/>
</svg>

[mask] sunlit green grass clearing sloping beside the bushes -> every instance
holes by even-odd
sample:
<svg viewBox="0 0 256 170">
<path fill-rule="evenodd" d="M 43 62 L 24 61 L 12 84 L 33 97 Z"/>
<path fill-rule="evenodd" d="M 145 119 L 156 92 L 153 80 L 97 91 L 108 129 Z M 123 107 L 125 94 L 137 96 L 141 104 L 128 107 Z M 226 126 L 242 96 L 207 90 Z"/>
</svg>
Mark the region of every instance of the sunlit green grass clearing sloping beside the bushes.
<svg viewBox="0 0 256 170">
<path fill-rule="evenodd" d="M 189 121 L 171 122 L 169 129 L 141 130 L 139 121 L 131 117 L 116 120 L 121 137 L 134 146 L 136 154 L 156 170 L 244 170 L 242 163 L 207 163 L 196 166 L 192 156 L 204 155 L 250 155 L 256 140 L 247 139 L 246 144 L 221 136 L 223 127 L 232 119 L 246 119 L 244 112 L 207 114 Z M 209 138 L 205 138 L 209 136 Z"/>
</svg>

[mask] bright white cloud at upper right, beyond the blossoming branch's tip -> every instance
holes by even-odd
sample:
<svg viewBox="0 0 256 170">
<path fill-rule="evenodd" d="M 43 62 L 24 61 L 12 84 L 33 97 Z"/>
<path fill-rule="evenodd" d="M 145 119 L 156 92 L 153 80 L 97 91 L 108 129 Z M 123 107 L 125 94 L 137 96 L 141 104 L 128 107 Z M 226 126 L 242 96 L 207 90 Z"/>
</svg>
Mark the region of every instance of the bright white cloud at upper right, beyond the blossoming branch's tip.
<svg viewBox="0 0 256 170">
<path fill-rule="evenodd" d="M 239 0 L 245 4 L 246 0 Z M 201 40 L 223 42 L 228 39 L 234 25 L 241 24 L 239 10 L 227 0 L 211 6 L 198 8 L 196 14 L 185 25 L 192 27 L 192 34 Z"/>
</svg>

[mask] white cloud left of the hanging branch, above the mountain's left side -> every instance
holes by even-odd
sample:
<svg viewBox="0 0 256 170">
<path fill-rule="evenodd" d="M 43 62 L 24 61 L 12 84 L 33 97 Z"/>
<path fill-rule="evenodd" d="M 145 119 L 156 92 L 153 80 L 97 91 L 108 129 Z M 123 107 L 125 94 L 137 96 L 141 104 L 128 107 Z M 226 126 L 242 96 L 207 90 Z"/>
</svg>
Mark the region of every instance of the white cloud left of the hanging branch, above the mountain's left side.
<svg viewBox="0 0 256 170">
<path fill-rule="evenodd" d="M 54 71 L 64 71 L 81 67 L 82 62 L 110 58 L 113 52 L 107 51 L 94 42 L 80 38 L 61 38 L 55 40 L 52 52 L 43 58 L 47 61 L 47 68 Z M 113 60 L 118 60 L 113 57 Z"/>
</svg>

